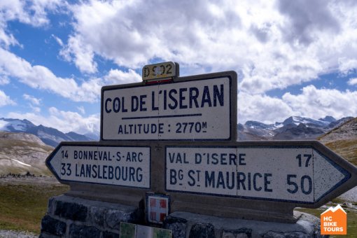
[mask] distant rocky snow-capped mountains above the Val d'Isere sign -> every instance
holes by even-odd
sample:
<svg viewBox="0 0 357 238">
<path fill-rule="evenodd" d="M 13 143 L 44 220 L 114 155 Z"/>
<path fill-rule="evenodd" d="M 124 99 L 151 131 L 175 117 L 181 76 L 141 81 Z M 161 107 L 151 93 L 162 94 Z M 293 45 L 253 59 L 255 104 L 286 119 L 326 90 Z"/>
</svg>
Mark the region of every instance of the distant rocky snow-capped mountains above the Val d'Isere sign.
<svg viewBox="0 0 357 238">
<path fill-rule="evenodd" d="M 307 140 L 317 139 L 326 132 L 342 125 L 351 117 L 336 120 L 326 116 L 318 120 L 291 116 L 282 123 L 265 124 L 249 120 L 244 125 L 238 124 L 238 140 Z"/>
</svg>

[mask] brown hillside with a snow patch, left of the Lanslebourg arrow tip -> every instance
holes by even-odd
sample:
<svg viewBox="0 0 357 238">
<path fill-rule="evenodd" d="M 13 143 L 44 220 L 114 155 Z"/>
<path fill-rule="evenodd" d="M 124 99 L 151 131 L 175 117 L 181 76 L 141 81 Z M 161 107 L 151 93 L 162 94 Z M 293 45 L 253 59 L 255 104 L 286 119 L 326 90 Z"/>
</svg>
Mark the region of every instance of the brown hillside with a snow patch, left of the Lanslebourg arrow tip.
<svg viewBox="0 0 357 238">
<path fill-rule="evenodd" d="M 0 175 L 50 175 L 45 159 L 53 151 L 33 134 L 0 132 Z"/>
</svg>

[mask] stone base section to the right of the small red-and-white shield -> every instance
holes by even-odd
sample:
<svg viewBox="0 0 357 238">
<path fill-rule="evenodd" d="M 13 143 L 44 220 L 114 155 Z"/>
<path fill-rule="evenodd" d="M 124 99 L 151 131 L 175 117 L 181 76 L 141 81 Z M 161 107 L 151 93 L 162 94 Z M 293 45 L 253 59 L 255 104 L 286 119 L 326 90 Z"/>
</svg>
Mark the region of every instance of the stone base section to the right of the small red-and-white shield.
<svg viewBox="0 0 357 238">
<path fill-rule="evenodd" d="M 232 218 L 218 218 L 176 211 L 165 218 L 163 228 L 172 230 L 173 238 L 310 238 L 320 235 L 316 216 L 294 212 L 296 223 L 269 223 Z"/>
</svg>

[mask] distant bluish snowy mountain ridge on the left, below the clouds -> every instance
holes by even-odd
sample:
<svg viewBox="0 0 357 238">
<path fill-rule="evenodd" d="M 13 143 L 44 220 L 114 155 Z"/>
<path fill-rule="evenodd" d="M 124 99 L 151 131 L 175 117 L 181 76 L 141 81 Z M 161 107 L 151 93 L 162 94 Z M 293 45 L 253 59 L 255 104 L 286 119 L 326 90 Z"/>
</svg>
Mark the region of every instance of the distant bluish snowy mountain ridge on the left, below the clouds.
<svg viewBox="0 0 357 238">
<path fill-rule="evenodd" d="M 61 141 L 94 141 L 96 139 L 87 137 L 76 132 L 64 134 L 52 127 L 43 125 L 34 125 L 29 120 L 0 118 L 0 131 L 3 132 L 25 132 L 34 134 L 48 146 L 57 146 Z"/>
</svg>

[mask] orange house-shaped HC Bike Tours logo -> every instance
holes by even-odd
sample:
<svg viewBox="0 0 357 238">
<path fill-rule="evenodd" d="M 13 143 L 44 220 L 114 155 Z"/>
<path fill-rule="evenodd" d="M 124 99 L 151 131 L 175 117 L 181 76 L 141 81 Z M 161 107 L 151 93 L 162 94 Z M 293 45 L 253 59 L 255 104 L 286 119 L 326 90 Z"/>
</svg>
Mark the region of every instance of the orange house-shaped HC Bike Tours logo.
<svg viewBox="0 0 357 238">
<path fill-rule="evenodd" d="M 320 219 L 321 235 L 347 235 L 347 214 L 340 205 L 324 211 Z"/>
</svg>

